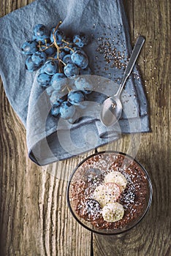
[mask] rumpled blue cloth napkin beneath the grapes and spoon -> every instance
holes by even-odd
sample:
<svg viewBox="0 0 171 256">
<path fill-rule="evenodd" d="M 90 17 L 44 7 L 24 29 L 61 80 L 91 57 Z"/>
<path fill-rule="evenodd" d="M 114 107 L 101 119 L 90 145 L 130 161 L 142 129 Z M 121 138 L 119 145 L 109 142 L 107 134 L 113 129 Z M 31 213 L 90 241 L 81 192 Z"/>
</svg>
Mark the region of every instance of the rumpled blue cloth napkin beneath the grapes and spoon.
<svg viewBox="0 0 171 256">
<path fill-rule="evenodd" d="M 37 85 L 37 72 L 25 69 L 21 45 L 32 38 L 35 24 L 48 29 L 62 20 L 69 36 L 83 32 L 91 37 L 86 46 L 89 64 L 97 84 L 83 118 L 69 124 L 50 116 L 46 91 Z M 0 19 L 0 74 L 12 108 L 26 127 L 29 157 L 47 165 L 110 143 L 122 133 L 149 132 L 147 100 L 140 74 L 134 67 L 121 95 L 123 114 L 118 124 L 104 127 L 99 120 L 100 92 L 113 95 L 121 83 L 132 47 L 129 26 L 121 0 L 36 0 Z M 98 98 L 96 100 L 96 97 Z"/>
</svg>

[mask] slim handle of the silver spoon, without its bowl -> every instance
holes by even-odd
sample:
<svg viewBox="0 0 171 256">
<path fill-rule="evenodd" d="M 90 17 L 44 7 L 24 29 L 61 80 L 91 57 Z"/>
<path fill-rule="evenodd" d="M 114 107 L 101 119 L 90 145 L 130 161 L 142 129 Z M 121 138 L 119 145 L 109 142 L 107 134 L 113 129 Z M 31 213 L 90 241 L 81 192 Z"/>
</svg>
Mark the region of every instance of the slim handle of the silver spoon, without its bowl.
<svg viewBox="0 0 171 256">
<path fill-rule="evenodd" d="M 117 95 L 121 94 L 121 91 L 123 89 L 123 86 L 126 82 L 126 79 L 129 77 L 130 73 L 132 72 L 132 69 L 134 67 L 135 61 L 137 61 L 137 57 L 139 56 L 140 50 L 142 48 L 143 43 L 145 42 L 145 38 L 140 36 L 137 38 L 137 42 L 134 45 L 134 49 L 132 50 L 132 55 L 129 59 L 129 63 L 125 69 L 125 72 L 123 74 L 123 80 L 121 83 L 120 88 L 118 89 Z"/>
</svg>

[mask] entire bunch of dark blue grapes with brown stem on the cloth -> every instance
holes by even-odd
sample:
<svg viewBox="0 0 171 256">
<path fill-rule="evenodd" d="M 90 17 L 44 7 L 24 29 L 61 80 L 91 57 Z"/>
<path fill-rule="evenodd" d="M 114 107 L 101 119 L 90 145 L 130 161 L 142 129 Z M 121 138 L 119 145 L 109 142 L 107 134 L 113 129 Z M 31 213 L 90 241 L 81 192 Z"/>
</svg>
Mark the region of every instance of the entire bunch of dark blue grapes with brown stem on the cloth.
<svg viewBox="0 0 171 256">
<path fill-rule="evenodd" d="M 48 30 L 37 24 L 32 40 L 24 42 L 21 50 L 27 56 L 28 72 L 39 69 L 37 83 L 50 97 L 52 116 L 61 116 L 73 123 L 78 116 L 77 110 L 86 108 L 83 102 L 93 90 L 91 81 L 83 76 L 91 75 L 88 56 L 83 50 L 88 37 L 83 33 L 72 39 L 66 37 L 60 25 L 61 22 Z"/>
</svg>

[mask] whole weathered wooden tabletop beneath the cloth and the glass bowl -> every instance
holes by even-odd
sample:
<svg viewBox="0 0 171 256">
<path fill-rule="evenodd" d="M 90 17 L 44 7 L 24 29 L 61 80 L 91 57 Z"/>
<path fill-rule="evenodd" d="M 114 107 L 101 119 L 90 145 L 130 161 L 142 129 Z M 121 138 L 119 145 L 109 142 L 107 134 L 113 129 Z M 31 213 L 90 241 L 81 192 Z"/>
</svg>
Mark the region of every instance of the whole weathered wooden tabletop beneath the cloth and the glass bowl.
<svg viewBox="0 0 171 256">
<path fill-rule="evenodd" d="M 1 16 L 31 0 L 1 0 Z M 77 224 L 66 206 L 62 172 L 93 153 L 46 167 L 28 159 L 26 130 L 0 90 L 0 251 L 1 255 L 154 255 L 170 252 L 170 1 L 124 0 L 132 45 L 146 37 L 138 60 L 149 102 L 151 132 L 124 135 L 100 149 L 127 151 L 130 139 L 140 148 L 136 158 L 151 175 L 153 202 L 142 222 L 121 238 L 97 236 Z M 132 144 L 132 145 L 133 145 Z M 132 147 L 132 151 L 134 147 Z M 61 177 L 54 175 L 61 170 Z"/>
</svg>

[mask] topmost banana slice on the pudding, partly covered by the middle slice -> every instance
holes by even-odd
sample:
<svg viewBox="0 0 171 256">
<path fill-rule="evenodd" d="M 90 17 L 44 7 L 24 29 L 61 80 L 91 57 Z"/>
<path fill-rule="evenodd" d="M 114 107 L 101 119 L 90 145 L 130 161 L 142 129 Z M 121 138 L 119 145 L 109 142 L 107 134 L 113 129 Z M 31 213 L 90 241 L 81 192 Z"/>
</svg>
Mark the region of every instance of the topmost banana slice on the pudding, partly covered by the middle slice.
<svg viewBox="0 0 171 256">
<path fill-rule="evenodd" d="M 127 184 L 126 178 L 123 176 L 123 174 L 116 170 L 111 173 L 108 173 L 104 177 L 104 182 L 114 182 L 115 184 L 118 184 L 121 189 L 121 192 L 123 192 Z"/>
</svg>

